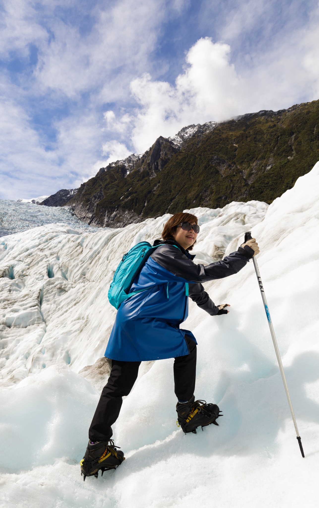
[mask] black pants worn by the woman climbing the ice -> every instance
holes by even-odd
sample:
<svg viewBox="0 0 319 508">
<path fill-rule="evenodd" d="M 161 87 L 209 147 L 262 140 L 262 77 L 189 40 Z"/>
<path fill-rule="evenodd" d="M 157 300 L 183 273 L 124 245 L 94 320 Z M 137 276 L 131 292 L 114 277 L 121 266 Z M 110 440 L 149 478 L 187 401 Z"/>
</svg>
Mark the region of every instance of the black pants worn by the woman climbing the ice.
<svg viewBox="0 0 319 508">
<path fill-rule="evenodd" d="M 187 335 L 185 339 L 189 355 L 179 356 L 174 361 L 175 394 L 178 400 L 188 401 L 194 395 L 196 377 L 196 344 Z M 88 436 L 91 441 L 108 441 L 112 437 L 111 425 L 117 420 L 122 397 L 129 395 L 136 381 L 141 362 L 112 360 L 112 369 L 90 425 Z"/>
</svg>

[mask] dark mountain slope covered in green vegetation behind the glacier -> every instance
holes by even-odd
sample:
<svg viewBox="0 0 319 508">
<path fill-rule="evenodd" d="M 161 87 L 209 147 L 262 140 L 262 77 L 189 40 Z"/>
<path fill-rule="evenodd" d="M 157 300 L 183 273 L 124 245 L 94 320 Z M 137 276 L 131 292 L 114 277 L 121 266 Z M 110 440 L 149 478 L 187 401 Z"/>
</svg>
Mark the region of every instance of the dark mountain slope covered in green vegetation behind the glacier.
<svg viewBox="0 0 319 508">
<path fill-rule="evenodd" d="M 118 227 L 185 208 L 271 203 L 319 160 L 319 101 L 241 116 L 181 147 L 160 137 L 138 161 L 83 183 L 68 203 L 88 223 Z"/>
</svg>

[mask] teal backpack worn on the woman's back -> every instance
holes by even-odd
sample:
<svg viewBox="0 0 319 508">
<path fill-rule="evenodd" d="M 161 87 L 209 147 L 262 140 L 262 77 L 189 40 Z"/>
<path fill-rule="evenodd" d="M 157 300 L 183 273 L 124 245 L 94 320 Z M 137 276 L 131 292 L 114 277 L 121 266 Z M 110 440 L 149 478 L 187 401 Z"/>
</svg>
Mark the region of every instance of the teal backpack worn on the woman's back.
<svg viewBox="0 0 319 508">
<path fill-rule="evenodd" d="M 131 296 L 137 295 L 138 293 L 148 289 L 145 288 L 129 293 L 133 280 L 141 271 L 151 253 L 160 245 L 165 244 L 160 243 L 159 245 L 153 247 L 148 242 L 140 242 L 134 245 L 129 252 L 124 254 L 122 261 L 116 268 L 113 281 L 108 292 L 109 302 L 113 305 L 113 307 L 118 309 L 120 304 L 126 300 L 126 298 L 130 298 Z M 177 247 L 177 245 L 175 245 L 175 247 Z"/>
</svg>

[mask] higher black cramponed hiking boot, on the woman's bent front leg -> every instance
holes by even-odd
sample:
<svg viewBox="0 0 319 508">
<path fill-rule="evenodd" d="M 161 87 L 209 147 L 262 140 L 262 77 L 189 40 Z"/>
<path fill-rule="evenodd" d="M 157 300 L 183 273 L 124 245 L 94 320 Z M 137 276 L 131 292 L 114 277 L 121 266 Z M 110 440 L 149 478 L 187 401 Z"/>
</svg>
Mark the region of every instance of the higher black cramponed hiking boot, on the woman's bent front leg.
<svg viewBox="0 0 319 508">
<path fill-rule="evenodd" d="M 206 404 L 206 400 L 195 400 L 193 397 L 185 404 L 176 404 L 177 426 L 185 432 L 194 432 L 196 434 L 197 427 L 206 427 L 216 422 L 217 418 L 222 416 L 219 413 L 219 407 L 216 404 Z"/>
</svg>

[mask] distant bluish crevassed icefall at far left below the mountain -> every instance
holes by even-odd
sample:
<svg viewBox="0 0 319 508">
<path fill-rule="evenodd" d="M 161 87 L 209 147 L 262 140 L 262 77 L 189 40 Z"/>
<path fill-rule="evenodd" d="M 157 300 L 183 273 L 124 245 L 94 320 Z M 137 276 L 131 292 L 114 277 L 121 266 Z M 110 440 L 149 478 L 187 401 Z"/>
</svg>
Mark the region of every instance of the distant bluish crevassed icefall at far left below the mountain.
<svg viewBox="0 0 319 508">
<path fill-rule="evenodd" d="M 61 223 L 86 231 L 97 229 L 87 226 L 67 207 L 35 206 L 33 203 L 0 199 L 0 238 L 52 223 Z"/>
</svg>

